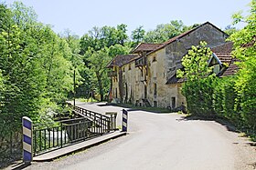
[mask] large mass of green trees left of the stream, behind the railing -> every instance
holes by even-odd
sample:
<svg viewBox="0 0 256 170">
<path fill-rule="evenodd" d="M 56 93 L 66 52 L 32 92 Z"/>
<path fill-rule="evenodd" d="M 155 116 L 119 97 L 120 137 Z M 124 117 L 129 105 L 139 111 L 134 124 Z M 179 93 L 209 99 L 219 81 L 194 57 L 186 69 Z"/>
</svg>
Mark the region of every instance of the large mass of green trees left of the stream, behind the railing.
<svg viewBox="0 0 256 170">
<path fill-rule="evenodd" d="M 31 8 L 18 2 L 0 8 L 0 136 L 6 137 L 19 130 L 22 116 L 41 122 L 59 109 L 73 66 L 69 46 Z"/>
</svg>

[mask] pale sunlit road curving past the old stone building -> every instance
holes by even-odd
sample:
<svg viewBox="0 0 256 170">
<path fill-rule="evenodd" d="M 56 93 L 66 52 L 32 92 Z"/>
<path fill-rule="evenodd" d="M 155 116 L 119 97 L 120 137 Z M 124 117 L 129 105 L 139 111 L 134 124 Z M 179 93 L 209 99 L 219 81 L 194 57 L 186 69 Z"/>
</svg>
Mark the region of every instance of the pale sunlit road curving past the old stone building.
<svg viewBox="0 0 256 170">
<path fill-rule="evenodd" d="M 121 107 L 80 106 L 101 113 L 116 111 L 121 125 Z M 129 135 L 27 169 L 254 169 L 255 147 L 214 121 L 130 110 L 128 122 Z"/>
</svg>

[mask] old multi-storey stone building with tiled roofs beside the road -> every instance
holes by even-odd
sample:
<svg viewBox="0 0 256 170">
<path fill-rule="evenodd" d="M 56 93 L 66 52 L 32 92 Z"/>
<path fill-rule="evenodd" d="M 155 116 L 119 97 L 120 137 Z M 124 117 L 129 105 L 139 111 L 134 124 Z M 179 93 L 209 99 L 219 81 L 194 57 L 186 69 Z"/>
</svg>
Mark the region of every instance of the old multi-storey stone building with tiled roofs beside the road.
<svg viewBox="0 0 256 170">
<path fill-rule="evenodd" d="M 206 41 L 208 47 L 223 45 L 228 37 L 215 25 L 205 23 L 163 44 L 137 45 L 131 55 L 117 55 L 112 68 L 112 97 L 115 101 L 142 106 L 176 108 L 186 105 L 182 80 L 176 70 L 192 45 Z"/>
</svg>

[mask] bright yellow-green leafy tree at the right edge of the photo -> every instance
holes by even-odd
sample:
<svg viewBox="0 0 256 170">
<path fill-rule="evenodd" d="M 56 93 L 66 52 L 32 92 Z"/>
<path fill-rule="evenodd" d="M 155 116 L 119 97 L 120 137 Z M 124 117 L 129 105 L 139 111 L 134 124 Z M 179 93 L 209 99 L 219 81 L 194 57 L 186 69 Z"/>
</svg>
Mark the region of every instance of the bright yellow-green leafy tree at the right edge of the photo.
<svg viewBox="0 0 256 170">
<path fill-rule="evenodd" d="M 245 22 L 247 25 L 232 34 L 229 40 L 234 42 L 233 55 L 240 59 L 240 67 L 235 88 L 238 94 L 235 110 L 240 112 L 245 123 L 256 128 L 256 0 L 251 1 L 251 14 L 243 17 L 233 15 L 234 24 Z"/>
</svg>

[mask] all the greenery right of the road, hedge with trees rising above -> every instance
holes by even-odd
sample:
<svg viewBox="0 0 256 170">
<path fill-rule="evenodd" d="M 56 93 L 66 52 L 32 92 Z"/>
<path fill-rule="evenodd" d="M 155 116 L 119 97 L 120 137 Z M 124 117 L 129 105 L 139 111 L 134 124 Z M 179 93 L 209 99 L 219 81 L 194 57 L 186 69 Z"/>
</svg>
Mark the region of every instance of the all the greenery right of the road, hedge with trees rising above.
<svg viewBox="0 0 256 170">
<path fill-rule="evenodd" d="M 235 125 L 255 133 L 256 128 L 256 1 L 251 1 L 251 14 L 243 17 L 239 12 L 234 23 L 247 25 L 229 36 L 234 43 L 232 54 L 240 60 L 236 75 L 215 78 L 208 75 L 209 50 L 204 44 L 192 46 L 182 64 L 184 70 L 179 76 L 186 78 L 182 92 L 187 98 L 187 110 L 192 115 L 218 115 Z M 207 57 L 205 57 L 207 56 Z M 202 62 L 202 63 L 201 63 Z M 255 135 L 254 135 L 255 136 Z"/>
</svg>

